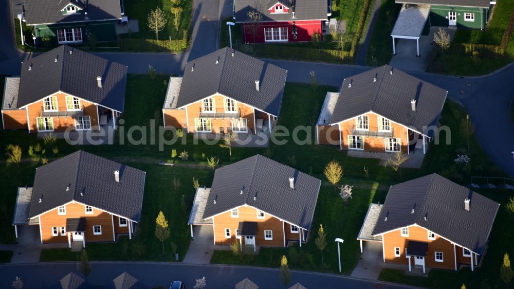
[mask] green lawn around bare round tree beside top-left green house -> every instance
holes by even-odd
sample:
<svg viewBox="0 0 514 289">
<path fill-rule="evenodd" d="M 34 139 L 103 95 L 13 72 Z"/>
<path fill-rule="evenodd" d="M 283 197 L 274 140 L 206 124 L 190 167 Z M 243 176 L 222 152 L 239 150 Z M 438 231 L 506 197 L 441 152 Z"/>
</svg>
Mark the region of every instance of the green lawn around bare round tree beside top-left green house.
<svg viewBox="0 0 514 289">
<path fill-rule="evenodd" d="M 174 26 L 174 16 L 171 12 L 172 4 L 170 0 L 125 0 L 125 14 L 130 19 L 137 19 L 139 21 L 139 32 L 124 35 L 124 37 L 138 38 L 138 39 L 155 39 L 155 32 L 152 31 L 148 25 L 146 25 L 146 19 L 151 10 L 159 7 L 167 16 L 168 22 L 166 28 L 159 31 L 160 40 L 181 39 L 182 30 L 191 30 L 191 16 L 193 11 L 192 0 L 180 1 L 180 7 L 182 8 L 182 14 L 180 16 L 180 24 L 178 30 Z"/>
</svg>

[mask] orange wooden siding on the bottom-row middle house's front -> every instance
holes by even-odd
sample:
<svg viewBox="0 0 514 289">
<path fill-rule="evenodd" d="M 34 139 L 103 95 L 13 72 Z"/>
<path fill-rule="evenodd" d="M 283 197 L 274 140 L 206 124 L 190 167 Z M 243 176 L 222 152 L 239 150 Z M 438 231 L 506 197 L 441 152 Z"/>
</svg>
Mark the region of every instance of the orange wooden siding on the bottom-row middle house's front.
<svg viewBox="0 0 514 289">
<path fill-rule="evenodd" d="M 239 207 L 239 218 L 232 218 L 231 212 L 219 214 L 213 218 L 216 245 L 229 245 L 235 241 L 235 229 L 239 222 L 257 222 L 255 245 L 262 247 L 284 247 L 284 231 L 282 222 L 268 214 L 264 219 L 257 219 L 257 210 L 252 207 Z M 287 230 L 287 224 L 286 230 Z M 231 238 L 225 238 L 225 229 L 230 229 Z M 273 240 L 264 240 L 264 230 L 271 230 Z M 244 243 L 243 243 L 244 244 Z"/>
</svg>

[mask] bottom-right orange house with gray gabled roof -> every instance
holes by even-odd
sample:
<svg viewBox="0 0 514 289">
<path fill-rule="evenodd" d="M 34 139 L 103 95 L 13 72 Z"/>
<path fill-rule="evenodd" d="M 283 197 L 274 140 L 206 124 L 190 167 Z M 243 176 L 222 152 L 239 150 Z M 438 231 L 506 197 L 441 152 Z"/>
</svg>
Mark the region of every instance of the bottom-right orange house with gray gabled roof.
<svg viewBox="0 0 514 289">
<path fill-rule="evenodd" d="M 500 204 L 438 174 L 391 186 L 371 204 L 357 240 L 379 242 L 383 262 L 458 270 L 480 266 Z"/>
</svg>

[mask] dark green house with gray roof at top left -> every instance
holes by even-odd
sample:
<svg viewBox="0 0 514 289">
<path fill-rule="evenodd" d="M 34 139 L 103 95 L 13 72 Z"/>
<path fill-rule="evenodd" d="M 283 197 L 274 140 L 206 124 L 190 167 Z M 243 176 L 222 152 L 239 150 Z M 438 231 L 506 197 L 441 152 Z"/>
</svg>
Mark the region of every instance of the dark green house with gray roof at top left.
<svg viewBox="0 0 514 289">
<path fill-rule="evenodd" d="M 96 41 L 116 41 L 116 25 L 124 16 L 119 0 L 22 0 L 21 10 L 38 47 L 87 43 L 91 35 Z"/>
</svg>

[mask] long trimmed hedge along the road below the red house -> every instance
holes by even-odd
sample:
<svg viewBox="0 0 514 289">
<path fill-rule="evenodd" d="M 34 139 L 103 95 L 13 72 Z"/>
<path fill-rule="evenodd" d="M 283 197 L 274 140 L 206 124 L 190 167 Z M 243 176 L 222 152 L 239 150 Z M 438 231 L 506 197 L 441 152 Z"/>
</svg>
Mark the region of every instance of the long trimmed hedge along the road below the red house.
<svg viewBox="0 0 514 289">
<path fill-rule="evenodd" d="M 324 62 L 350 62 L 350 52 L 334 49 L 291 47 L 273 44 L 255 44 L 259 57 L 301 59 Z"/>
</svg>

